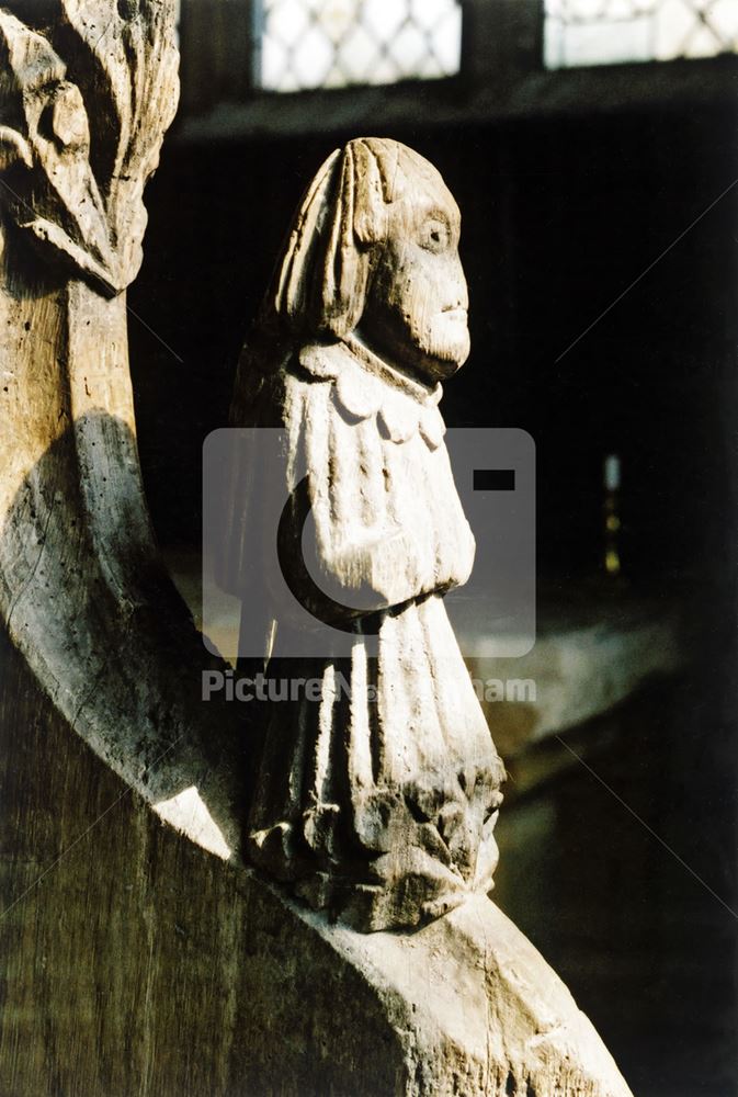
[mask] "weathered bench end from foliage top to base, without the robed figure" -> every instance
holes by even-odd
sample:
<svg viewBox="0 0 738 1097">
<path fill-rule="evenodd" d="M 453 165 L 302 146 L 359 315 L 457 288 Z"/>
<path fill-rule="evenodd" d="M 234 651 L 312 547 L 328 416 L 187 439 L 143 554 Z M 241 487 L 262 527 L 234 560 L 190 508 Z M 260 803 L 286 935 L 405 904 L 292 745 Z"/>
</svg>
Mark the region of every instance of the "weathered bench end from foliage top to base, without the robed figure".
<svg viewBox="0 0 738 1097">
<path fill-rule="evenodd" d="M 624 1097 L 487 898 L 367 937 L 239 859 L 248 742 L 198 701 L 127 371 L 174 7 L 0 12 L 0 1092 Z"/>
</svg>

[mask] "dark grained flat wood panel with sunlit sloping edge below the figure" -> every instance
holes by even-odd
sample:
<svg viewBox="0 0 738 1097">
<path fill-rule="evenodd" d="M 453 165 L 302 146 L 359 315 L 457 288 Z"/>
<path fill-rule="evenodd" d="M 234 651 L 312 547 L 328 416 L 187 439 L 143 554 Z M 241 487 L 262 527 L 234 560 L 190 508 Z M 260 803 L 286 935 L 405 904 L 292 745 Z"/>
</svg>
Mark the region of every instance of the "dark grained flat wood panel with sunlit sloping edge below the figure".
<svg viewBox="0 0 738 1097">
<path fill-rule="evenodd" d="M 3 645 L 3 1097 L 627 1097 L 486 897 L 331 927 L 163 825 Z"/>
</svg>

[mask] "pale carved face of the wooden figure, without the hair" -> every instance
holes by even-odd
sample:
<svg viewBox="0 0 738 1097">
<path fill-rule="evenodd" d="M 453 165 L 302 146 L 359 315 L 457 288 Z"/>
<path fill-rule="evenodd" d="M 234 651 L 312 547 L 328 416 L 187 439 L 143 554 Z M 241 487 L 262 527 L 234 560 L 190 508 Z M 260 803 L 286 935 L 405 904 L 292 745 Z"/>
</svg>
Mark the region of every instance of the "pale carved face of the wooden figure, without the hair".
<svg viewBox="0 0 738 1097">
<path fill-rule="evenodd" d="M 458 207 L 435 169 L 423 166 L 388 206 L 360 331 L 384 358 L 435 382 L 468 357 L 468 293 Z"/>
</svg>

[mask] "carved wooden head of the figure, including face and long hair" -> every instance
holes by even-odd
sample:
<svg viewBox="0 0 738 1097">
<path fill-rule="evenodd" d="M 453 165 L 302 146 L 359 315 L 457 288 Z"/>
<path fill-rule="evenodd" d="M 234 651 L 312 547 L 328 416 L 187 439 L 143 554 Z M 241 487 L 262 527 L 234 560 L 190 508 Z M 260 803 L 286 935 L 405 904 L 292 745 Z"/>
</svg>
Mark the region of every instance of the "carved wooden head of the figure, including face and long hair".
<svg viewBox="0 0 738 1097">
<path fill-rule="evenodd" d="M 356 332 L 435 381 L 469 352 L 461 216 L 439 172 L 398 142 L 350 142 L 323 163 L 277 265 L 270 307 L 297 339 Z"/>
</svg>

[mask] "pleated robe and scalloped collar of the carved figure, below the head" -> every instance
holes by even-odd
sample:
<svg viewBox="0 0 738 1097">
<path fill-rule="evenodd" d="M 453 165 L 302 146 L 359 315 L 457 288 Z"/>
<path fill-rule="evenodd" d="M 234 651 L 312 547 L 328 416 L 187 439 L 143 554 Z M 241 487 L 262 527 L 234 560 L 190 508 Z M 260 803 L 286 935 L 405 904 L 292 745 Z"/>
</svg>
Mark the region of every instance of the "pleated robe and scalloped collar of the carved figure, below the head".
<svg viewBox="0 0 738 1097">
<path fill-rule="evenodd" d="M 287 432 L 285 497 L 308 470 L 319 585 L 352 638 L 350 657 L 268 668 L 322 692 L 268 704 L 249 856 L 362 929 L 412 924 L 491 886 L 503 777 L 443 603 L 475 545 L 441 386 L 350 337 L 304 348 L 258 387 L 251 421 Z"/>
</svg>

